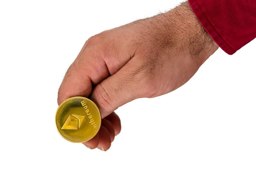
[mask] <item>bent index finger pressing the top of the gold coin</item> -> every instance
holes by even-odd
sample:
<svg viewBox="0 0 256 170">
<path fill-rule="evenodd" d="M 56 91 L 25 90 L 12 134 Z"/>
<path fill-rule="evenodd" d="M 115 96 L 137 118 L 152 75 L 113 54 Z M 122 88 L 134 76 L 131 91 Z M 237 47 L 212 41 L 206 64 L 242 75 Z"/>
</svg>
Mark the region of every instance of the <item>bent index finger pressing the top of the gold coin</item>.
<svg viewBox="0 0 256 170">
<path fill-rule="evenodd" d="M 93 84 L 109 76 L 108 67 L 100 52 L 103 48 L 99 36 L 84 43 L 78 57 L 70 65 L 58 91 L 58 104 L 73 96 L 87 97 Z M 98 49 L 98 50 L 97 50 Z"/>
</svg>

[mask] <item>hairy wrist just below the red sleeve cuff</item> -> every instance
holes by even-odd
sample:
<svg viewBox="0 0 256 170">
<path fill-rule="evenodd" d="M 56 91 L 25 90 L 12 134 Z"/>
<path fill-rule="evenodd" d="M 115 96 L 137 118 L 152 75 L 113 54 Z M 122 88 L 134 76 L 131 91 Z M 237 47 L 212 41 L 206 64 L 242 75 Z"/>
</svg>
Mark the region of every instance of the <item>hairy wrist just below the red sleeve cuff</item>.
<svg viewBox="0 0 256 170">
<path fill-rule="evenodd" d="M 198 21 L 188 2 L 162 14 L 161 17 L 166 20 L 166 24 L 171 25 L 172 29 L 169 31 L 176 45 L 181 46 L 200 64 L 218 49 L 218 45 Z"/>
</svg>

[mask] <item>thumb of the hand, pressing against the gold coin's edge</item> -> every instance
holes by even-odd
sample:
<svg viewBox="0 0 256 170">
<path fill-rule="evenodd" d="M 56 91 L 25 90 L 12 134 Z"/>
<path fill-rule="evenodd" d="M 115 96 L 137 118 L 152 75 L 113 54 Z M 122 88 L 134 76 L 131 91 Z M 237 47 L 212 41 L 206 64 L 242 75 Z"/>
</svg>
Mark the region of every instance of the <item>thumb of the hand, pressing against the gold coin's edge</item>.
<svg viewBox="0 0 256 170">
<path fill-rule="evenodd" d="M 137 65 L 132 58 L 116 74 L 100 82 L 93 89 L 90 98 L 99 107 L 102 118 L 105 118 L 118 107 L 139 98 L 147 88 L 143 88 L 145 81 L 140 74 L 141 65 Z"/>
</svg>

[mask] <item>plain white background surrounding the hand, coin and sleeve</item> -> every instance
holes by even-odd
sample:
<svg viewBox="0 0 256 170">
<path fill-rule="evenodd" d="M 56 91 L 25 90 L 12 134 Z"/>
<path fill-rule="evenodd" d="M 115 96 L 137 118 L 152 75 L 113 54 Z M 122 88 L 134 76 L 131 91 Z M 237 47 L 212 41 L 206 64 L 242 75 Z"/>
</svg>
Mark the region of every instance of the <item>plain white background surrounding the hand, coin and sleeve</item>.
<svg viewBox="0 0 256 170">
<path fill-rule="evenodd" d="M 84 42 L 180 2 L 1 0 L 0 169 L 255 170 L 255 40 L 219 49 L 176 91 L 119 108 L 107 152 L 56 130 L 58 87 Z"/>
</svg>

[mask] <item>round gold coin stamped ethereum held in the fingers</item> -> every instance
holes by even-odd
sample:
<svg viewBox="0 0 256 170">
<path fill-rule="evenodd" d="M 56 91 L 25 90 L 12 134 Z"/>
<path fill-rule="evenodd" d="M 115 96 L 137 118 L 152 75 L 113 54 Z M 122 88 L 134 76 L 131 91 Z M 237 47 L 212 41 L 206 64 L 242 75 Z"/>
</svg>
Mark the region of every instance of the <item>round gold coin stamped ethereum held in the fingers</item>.
<svg viewBox="0 0 256 170">
<path fill-rule="evenodd" d="M 97 105 L 85 97 L 72 97 L 58 107 L 55 122 L 61 136 L 75 143 L 87 142 L 99 131 L 101 114 Z"/>
</svg>

